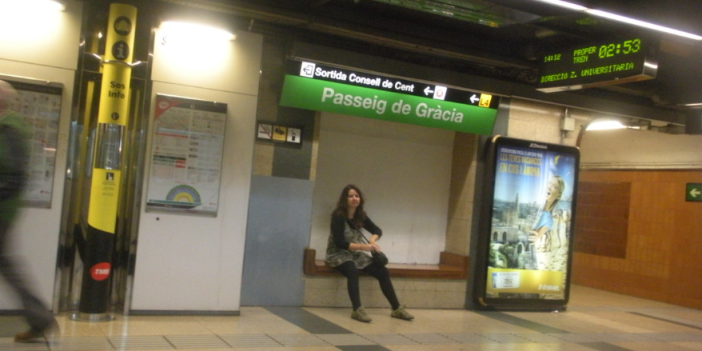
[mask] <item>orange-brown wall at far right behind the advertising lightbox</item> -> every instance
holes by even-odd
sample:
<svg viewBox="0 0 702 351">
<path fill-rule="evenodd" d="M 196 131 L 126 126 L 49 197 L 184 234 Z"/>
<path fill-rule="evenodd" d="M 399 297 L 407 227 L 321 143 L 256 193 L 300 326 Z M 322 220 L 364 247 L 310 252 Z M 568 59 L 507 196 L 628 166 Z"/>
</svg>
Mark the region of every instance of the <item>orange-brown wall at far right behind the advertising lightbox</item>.
<svg viewBox="0 0 702 351">
<path fill-rule="evenodd" d="M 702 171 L 581 171 L 579 180 L 571 282 L 702 309 L 702 265 L 696 263 L 702 251 L 702 202 L 685 201 L 685 186 L 702 183 Z M 590 216 L 602 215 L 618 199 L 603 194 L 588 200 L 585 192 L 616 183 L 630 185 L 628 210 L 616 213 L 627 214 L 625 237 L 592 234 L 598 225 L 590 223 Z"/>
</svg>

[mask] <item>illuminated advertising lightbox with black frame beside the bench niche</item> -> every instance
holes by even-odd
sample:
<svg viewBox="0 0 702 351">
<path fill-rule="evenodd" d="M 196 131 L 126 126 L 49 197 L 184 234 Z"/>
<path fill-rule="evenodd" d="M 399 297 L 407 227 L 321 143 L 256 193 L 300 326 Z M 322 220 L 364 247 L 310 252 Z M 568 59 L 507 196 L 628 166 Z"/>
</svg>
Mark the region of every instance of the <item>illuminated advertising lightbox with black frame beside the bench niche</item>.
<svg viewBox="0 0 702 351">
<path fill-rule="evenodd" d="M 496 136 L 488 150 L 484 201 L 489 216 L 481 216 L 475 296 L 484 306 L 564 306 L 578 148 Z"/>
</svg>

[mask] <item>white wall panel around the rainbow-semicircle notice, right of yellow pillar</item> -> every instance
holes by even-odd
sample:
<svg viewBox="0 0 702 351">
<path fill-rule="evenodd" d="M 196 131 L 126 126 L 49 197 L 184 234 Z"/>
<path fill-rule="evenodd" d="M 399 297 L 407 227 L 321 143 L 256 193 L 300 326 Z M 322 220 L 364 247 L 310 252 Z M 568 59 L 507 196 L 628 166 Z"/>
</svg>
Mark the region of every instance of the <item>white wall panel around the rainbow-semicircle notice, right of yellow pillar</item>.
<svg viewBox="0 0 702 351">
<path fill-rule="evenodd" d="M 227 104 L 220 201 L 215 218 L 141 213 L 131 310 L 237 311 L 263 39 L 239 33 L 220 46 L 178 51 L 163 36 L 157 31 L 152 102 L 161 93 Z M 149 169 L 151 139 L 147 145 Z"/>
</svg>

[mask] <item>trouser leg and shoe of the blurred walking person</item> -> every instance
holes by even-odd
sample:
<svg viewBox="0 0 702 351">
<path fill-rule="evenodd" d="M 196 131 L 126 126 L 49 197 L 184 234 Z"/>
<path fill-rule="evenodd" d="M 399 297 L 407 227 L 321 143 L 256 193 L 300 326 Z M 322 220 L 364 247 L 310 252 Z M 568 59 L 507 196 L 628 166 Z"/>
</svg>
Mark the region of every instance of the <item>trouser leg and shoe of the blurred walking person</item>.
<svg viewBox="0 0 702 351">
<path fill-rule="evenodd" d="M 55 319 L 51 311 L 44 306 L 44 303 L 41 303 L 41 300 L 29 291 L 28 284 L 22 277 L 22 274 L 20 274 L 18 265 L 8 257 L 6 250 L 8 249 L 9 230 L 9 223 L 0 220 L 0 274 L 22 300 L 27 324 L 29 324 L 31 330 L 20 334 L 26 334 L 27 338 L 34 338 L 41 336 L 45 329 L 55 324 Z M 17 338 L 15 337 L 15 340 Z"/>
</svg>

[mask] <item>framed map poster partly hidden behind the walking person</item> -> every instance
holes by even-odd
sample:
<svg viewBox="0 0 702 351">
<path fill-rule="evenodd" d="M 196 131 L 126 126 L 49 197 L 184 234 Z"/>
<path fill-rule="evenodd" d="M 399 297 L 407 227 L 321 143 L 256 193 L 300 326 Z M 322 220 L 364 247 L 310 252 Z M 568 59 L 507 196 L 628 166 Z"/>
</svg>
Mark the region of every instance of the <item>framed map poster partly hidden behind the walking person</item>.
<svg viewBox="0 0 702 351">
<path fill-rule="evenodd" d="M 13 110 L 22 115 L 32 131 L 29 182 L 22 205 L 51 208 L 63 84 L 1 75 L 0 79 L 12 84 L 17 91 Z"/>
</svg>

